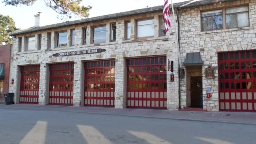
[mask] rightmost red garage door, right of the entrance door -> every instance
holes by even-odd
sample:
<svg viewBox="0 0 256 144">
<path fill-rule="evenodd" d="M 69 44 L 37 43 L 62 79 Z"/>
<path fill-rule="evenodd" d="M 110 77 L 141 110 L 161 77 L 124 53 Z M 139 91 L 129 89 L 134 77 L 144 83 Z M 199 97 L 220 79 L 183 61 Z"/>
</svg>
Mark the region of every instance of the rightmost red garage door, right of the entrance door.
<svg viewBox="0 0 256 144">
<path fill-rule="evenodd" d="M 221 111 L 256 112 L 256 50 L 218 54 Z"/>
</svg>

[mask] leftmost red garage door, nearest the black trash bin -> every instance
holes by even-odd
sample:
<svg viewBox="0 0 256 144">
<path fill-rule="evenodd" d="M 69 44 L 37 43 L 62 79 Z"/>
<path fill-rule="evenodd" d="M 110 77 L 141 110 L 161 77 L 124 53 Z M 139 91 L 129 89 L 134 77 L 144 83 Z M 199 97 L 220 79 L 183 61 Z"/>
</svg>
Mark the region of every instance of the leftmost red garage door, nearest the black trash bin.
<svg viewBox="0 0 256 144">
<path fill-rule="evenodd" d="M 20 67 L 20 103 L 38 104 L 40 65 Z"/>
</svg>

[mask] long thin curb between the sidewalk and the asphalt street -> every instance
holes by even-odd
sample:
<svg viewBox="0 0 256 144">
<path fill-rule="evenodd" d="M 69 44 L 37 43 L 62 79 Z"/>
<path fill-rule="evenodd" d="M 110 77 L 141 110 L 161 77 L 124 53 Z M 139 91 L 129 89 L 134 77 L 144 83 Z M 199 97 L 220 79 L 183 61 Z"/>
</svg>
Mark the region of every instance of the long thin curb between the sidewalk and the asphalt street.
<svg viewBox="0 0 256 144">
<path fill-rule="evenodd" d="M 202 120 L 202 119 L 191 119 L 191 118 L 178 118 L 178 117 L 154 117 L 146 115 L 120 115 L 120 114 L 109 114 L 100 112 L 77 112 L 77 111 L 59 111 L 51 109 L 19 109 L 19 108 L 0 108 L 0 109 L 10 109 L 10 110 L 34 110 L 34 111 L 51 111 L 51 112 L 74 112 L 83 114 L 93 114 L 93 115 L 113 115 L 113 116 L 124 116 L 124 117 L 143 117 L 143 118 L 155 118 L 155 119 L 165 119 L 165 120 L 181 120 L 181 121 L 192 121 L 192 122 L 204 122 L 204 123 L 227 123 L 227 124 L 238 124 L 238 125 L 256 125 L 256 123 L 243 123 L 243 122 L 231 122 L 231 121 L 221 121 L 221 120 Z"/>
</svg>

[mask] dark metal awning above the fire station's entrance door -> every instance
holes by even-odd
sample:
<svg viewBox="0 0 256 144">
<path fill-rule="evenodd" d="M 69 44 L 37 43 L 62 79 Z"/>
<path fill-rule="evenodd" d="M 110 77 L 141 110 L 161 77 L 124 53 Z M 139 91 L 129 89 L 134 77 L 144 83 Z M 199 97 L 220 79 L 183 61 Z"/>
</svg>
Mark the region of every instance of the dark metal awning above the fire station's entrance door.
<svg viewBox="0 0 256 144">
<path fill-rule="evenodd" d="M 200 52 L 187 53 L 186 59 L 183 62 L 184 66 L 197 66 L 203 65 L 203 60 L 201 58 Z"/>
</svg>

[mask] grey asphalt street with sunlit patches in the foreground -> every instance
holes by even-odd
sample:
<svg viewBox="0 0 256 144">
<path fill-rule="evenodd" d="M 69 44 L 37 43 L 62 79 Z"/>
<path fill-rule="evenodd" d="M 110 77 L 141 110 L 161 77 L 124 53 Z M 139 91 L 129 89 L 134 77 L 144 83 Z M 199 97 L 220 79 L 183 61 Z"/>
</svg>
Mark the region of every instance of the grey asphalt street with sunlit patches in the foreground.
<svg viewBox="0 0 256 144">
<path fill-rule="evenodd" d="M 256 125 L 0 109 L 0 144 L 256 144 Z"/>
</svg>

